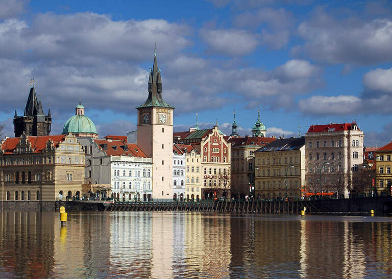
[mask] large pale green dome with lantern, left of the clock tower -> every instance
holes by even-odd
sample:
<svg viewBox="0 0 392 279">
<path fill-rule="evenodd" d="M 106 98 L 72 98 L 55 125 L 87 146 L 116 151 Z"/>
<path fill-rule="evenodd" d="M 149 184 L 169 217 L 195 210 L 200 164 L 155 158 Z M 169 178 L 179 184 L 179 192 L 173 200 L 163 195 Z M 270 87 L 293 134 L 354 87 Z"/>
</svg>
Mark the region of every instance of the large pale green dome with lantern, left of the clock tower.
<svg viewBox="0 0 392 279">
<path fill-rule="evenodd" d="M 72 133 L 76 136 L 91 136 L 96 138 L 96 128 L 94 123 L 84 115 L 84 106 L 79 100 L 79 104 L 75 108 L 75 115 L 65 123 L 63 134 Z"/>
</svg>

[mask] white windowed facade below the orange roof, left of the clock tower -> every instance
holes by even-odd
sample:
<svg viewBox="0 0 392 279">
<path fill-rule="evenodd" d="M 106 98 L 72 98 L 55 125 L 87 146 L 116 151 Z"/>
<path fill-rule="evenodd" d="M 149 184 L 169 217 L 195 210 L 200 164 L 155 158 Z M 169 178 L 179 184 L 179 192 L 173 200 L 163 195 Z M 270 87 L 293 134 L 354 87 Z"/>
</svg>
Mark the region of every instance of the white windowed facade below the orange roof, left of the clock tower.
<svg viewBox="0 0 392 279">
<path fill-rule="evenodd" d="M 119 201 L 151 200 L 153 163 L 151 158 L 110 156 L 110 183 Z"/>
</svg>

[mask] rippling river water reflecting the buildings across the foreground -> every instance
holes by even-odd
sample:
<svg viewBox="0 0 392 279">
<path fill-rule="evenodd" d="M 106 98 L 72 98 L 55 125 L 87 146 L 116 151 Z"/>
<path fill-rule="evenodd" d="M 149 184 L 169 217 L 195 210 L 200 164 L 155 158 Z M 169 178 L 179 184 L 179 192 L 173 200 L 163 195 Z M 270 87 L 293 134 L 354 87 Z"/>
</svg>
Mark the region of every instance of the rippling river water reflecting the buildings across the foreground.
<svg viewBox="0 0 392 279">
<path fill-rule="evenodd" d="M 0 277 L 391 277 L 388 217 L 0 212 Z"/>
</svg>

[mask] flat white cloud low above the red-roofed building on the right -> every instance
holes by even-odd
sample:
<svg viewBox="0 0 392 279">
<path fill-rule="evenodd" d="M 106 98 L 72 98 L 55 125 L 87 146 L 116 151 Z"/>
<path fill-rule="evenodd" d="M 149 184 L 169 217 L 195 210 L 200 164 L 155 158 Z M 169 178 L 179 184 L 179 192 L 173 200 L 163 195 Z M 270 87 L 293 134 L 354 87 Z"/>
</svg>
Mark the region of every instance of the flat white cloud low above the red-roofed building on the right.
<svg viewBox="0 0 392 279">
<path fill-rule="evenodd" d="M 361 99 L 353 95 L 312 96 L 299 101 L 299 110 L 309 115 L 357 114 L 361 106 Z"/>
</svg>

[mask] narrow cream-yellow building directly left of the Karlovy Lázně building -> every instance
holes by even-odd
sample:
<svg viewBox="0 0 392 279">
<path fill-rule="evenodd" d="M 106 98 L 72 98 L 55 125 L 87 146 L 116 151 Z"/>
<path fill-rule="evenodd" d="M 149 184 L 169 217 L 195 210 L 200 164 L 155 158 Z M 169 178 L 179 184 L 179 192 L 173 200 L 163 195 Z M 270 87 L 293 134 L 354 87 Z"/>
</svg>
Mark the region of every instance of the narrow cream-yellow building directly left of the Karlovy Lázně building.
<svg viewBox="0 0 392 279">
<path fill-rule="evenodd" d="M 185 155 L 185 198 L 202 197 L 202 159 L 200 153 L 193 149 Z"/>
</svg>

